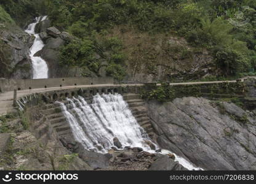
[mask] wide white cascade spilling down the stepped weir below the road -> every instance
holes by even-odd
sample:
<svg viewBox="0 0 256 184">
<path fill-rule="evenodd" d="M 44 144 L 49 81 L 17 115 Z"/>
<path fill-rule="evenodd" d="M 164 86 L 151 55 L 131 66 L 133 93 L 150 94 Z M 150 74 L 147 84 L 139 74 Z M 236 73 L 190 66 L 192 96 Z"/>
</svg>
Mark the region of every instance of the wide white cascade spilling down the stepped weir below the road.
<svg viewBox="0 0 256 184">
<path fill-rule="evenodd" d="M 74 138 L 87 150 L 107 153 L 114 146 L 114 137 L 118 137 L 122 147 L 141 147 L 145 151 L 154 153 L 154 150 L 146 144 L 151 141 L 148 134 L 138 125 L 121 94 L 97 94 L 92 104 L 88 104 L 81 96 L 67 98 L 67 101 L 66 105 L 62 102 L 57 103 L 61 105 L 70 123 Z M 171 152 L 162 150 L 162 153 Z M 177 155 L 175 159 L 187 169 L 200 169 Z"/>
</svg>

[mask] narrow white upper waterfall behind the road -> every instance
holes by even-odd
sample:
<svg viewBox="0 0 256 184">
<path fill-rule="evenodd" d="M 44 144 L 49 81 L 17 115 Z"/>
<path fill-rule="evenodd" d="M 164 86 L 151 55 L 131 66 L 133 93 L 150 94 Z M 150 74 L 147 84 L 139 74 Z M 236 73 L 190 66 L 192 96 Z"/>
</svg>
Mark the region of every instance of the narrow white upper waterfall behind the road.
<svg viewBox="0 0 256 184">
<path fill-rule="evenodd" d="M 39 21 L 46 20 L 46 18 L 47 16 L 44 16 L 42 18 L 36 17 L 36 21 L 28 25 L 28 28 L 25 30 L 26 33 L 31 34 L 35 37 L 34 43 L 30 48 L 30 58 L 33 66 L 33 76 L 32 76 L 33 79 L 48 78 L 48 66 L 46 64 L 46 61 L 44 61 L 44 59 L 42 59 L 41 57 L 34 56 L 35 53 L 37 53 L 39 50 L 42 50 L 42 48 L 44 47 L 44 43 L 39 37 L 39 34 L 34 33 L 34 29 L 36 28 L 36 25 L 39 23 Z"/>
</svg>

